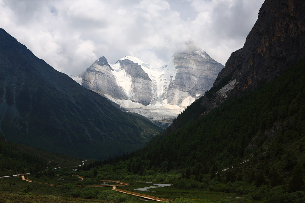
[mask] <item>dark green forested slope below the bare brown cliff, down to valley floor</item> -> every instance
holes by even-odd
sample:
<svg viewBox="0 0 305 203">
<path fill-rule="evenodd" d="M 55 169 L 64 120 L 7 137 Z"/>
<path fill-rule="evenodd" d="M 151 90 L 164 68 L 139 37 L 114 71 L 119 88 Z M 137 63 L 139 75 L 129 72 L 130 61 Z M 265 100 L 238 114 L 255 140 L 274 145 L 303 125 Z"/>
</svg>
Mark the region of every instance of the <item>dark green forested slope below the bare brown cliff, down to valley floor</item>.
<svg viewBox="0 0 305 203">
<path fill-rule="evenodd" d="M 305 199 L 305 61 L 203 117 L 199 106 L 197 100 L 174 128 L 121 158 L 127 171 L 143 179 L 154 171 L 160 175 L 153 178 L 176 187 L 237 192 L 268 202 Z M 103 163 L 116 165 L 116 160 Z"/>
</svg>

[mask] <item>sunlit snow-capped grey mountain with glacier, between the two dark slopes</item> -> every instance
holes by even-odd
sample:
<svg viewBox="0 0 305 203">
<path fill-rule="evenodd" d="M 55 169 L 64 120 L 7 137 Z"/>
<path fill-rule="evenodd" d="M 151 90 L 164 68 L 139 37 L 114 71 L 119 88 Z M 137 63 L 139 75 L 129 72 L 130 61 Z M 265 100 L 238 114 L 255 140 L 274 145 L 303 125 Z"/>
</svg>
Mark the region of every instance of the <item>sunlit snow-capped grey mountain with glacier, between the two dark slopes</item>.
<svg viewBox="0 0 305 203">
<path fill-rule="evenodd" d="M 133 56 L 116 64 L 101 57 L 80 75 L 70 77 L 130 112 L 171 123 L 212 87 L 222 68 L 204 50 L 190 48 L 160 68 Z"/>
</svg>

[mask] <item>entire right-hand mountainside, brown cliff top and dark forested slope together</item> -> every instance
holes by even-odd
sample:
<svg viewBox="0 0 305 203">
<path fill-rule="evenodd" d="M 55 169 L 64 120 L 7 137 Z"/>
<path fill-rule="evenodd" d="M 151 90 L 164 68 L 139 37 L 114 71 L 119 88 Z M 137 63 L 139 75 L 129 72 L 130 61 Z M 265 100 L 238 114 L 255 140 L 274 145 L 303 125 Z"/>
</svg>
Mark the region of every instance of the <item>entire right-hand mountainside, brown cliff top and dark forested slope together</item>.
<svg viewBox="0 0 305 203">
<path fill-rule="evenodd" d="M 176 187 L 304 202 L 304 2 L 267 0 L 213 87 L 145 148 L 128 171 Z M 280 26 L 279 26 L 280 25 Z M 111 161 L 110 161 L 111 162 Z"/>
</svg>

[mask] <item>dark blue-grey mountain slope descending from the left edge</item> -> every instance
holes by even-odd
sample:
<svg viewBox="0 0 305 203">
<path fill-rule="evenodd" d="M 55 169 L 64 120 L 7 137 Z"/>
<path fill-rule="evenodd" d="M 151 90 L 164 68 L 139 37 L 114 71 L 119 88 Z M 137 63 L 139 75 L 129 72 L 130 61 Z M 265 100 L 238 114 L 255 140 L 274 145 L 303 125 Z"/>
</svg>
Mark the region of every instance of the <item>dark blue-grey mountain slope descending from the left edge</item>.
<svg viewBox="0 0 305 203">
<path fill-rule="evenodd" d="M 56 71 L 3 29 L 0 39 L 0 130 L 6 139 L 103 159 L 137 149 L 160 131 Z"/>
</svg>

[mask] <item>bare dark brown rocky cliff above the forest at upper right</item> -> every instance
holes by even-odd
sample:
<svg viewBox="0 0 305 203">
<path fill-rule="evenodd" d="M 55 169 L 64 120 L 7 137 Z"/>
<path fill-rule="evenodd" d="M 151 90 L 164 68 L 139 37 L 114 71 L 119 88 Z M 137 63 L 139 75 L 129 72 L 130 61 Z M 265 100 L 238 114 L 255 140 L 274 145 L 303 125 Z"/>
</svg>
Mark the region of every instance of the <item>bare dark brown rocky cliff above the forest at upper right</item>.
<svg viewBox="0 0 305 203">
<path fill-rule="evenodd" d="M 273 80 L 305 57 L 305 2 L 266 0 L 244 47 L 233 52 L 202 100 L 212 109 Z"/>
</svg>

